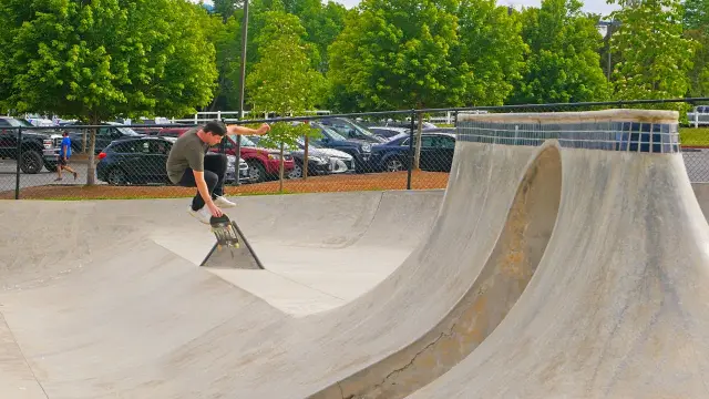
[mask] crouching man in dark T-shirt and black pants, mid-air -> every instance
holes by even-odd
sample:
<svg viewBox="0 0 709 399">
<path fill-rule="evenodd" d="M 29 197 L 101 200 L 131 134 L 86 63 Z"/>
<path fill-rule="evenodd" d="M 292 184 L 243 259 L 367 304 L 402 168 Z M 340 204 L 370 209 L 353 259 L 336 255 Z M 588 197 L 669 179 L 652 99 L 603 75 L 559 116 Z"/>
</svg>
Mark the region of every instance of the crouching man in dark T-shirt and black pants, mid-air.
<svg viewBox="0 0 709 399">
<path fill-rule="evenodd" d="M 183 187 L 197 187 L 188 212 L 199 222 L 209 224 L 209 217 L 222 216 L 219 207 L 232 207 L 235 204 L 224 197 L 224 176 L 227 157 L 225 154 L 207 152 L 210 146 L 219 144 L 225 134 L 264 135 L 270 131 L 266 123 L 257 130 L 229 125 L 219 121 L 186 131 L 173 144 L 167 156 L 167 176 L 173 184 Z"/>
</svg>

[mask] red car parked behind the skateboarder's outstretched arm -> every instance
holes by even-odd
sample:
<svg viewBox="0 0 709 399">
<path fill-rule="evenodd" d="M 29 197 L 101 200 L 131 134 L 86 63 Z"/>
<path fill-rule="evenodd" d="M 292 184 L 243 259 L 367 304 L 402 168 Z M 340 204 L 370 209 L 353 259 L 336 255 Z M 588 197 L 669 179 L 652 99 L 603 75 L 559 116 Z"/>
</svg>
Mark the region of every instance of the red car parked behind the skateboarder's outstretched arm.
<svg viewBox="0 0 709 399">
<path fill-rule="evenodd" d="M 188 127 L 165 127 L 162 129 L 158 136 L 172 136 L 178 137 L 185 133 Z M 225 150 L 227 154 L 236 156 L 236 135 L 227 136 L 225 142 Z M 209 149 L 213 152 L 219 152 L 219 147 L 215 146 Z M 245 136 L 242 136 L 242 160 L 246 161 L 249 168 L 249 182 L 260 183 L 267 180 L 278 178 L 280 170 L 280 151 L 273 149 L 263 149 L 257 146 L 253 141 Z M 295 167 L 292 156 L 288 153 L 284 153 L 284 175 L 288 175 Z"/>
</svg>

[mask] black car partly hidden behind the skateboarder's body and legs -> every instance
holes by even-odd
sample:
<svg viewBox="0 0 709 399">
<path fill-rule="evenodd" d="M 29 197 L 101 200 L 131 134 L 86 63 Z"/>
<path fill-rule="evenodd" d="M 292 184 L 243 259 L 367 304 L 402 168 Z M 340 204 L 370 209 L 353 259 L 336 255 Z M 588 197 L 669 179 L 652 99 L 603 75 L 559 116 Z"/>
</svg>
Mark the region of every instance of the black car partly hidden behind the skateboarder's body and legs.
<svg viewBox="0 0 709 399">
<path fill-rule="evenodd" d="M 172 184 L 167 178 L 167 155 L 175 139 L 138 137 L 117 140 L 99 153 L 96 177 L 109 184 Z M 207 154 L 206 156 L 210 156 Z M 236 180 L 236 156 L 227 155 L 225 182 Z M 239 162 L 239 180 L 248 182 L 248 165 Z"/>
</svg>

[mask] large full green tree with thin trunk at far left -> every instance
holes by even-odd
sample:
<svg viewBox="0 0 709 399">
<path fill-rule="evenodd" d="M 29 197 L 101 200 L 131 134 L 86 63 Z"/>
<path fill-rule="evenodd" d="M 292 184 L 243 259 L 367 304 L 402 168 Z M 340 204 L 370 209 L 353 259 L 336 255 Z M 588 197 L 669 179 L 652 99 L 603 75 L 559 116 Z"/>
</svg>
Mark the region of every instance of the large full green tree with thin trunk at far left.
<svg viewBox="0 0 709 399">
<path fill-rule="evenodd" d="M 0 92 L 18 112 L 91 124 L 193 113 L 209 102 L 217 76 L 207 19 L 184 0 L 6 0 Z M 90 185 L 94 141 L 95 131 Z"/>
</svg>

